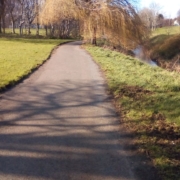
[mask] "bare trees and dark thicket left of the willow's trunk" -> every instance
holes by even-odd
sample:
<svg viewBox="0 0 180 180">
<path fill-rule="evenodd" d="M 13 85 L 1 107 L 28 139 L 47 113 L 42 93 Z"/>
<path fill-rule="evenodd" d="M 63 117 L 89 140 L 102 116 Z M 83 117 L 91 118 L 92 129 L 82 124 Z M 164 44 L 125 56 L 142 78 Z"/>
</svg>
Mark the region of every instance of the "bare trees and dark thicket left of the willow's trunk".
<svg viewBox="0 0 180 180">
<path fill-rule="evenodd" d="M 30 35 L 31 28 L 36 28 L 36 35 L 39 35 L 39 28 L 45 28 L 47 36 L 78 36 L 78 22 L 73 19 L 40 25 L 40 14 L 45 2 L 46 0 L 0 0 L 0 33 L 6 33 L 6 28 L 11 28 L 13 34 L 19 29 L 20 35 Z"/>
</svg>

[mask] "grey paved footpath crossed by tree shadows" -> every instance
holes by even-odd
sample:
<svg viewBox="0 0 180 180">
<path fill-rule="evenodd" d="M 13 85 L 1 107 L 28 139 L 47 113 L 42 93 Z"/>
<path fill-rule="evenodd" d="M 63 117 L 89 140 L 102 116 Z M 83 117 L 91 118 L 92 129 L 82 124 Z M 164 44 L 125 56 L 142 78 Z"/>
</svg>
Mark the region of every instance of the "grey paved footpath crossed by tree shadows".
<svg viewBox="0 0 180 180">
<path fill-rule="evenodd" d="M 150 179 L 140 168 L 147 163 L 134 162 L 123 145 L 129 134 L 105 87 L 98 66 L 73 42 L 1 94 L 0 180 Z"/>
</svg>

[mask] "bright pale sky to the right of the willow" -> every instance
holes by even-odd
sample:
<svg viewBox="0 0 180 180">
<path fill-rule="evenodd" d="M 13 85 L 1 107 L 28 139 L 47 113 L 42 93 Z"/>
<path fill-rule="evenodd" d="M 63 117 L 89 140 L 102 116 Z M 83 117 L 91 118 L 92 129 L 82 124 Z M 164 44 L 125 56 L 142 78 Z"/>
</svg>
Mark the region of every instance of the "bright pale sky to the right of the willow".
<svg viewBox="0 0 180 180">
<path fill-rule="evenodd" d="M 180 9 L 180 0 L 140 0 L 140 8 L 149 7 L 152 2 L 159 4 L 160 13 L 167 18 L 175 18 Z"/>
</svg>

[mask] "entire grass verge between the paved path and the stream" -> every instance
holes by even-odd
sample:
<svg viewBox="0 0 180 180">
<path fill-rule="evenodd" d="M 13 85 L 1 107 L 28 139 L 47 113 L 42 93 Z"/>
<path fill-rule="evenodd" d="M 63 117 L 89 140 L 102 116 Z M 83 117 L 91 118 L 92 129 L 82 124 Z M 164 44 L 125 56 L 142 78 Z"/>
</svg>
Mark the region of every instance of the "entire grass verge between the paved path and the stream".
<svg viewBox="0 0 180 180">
<path fill-rule="evenodd" d="M 122 121 L 162 179 L 180 179 L 180 74 L 132 57 L 86 46 L 105 72 Z"/>
</svg>

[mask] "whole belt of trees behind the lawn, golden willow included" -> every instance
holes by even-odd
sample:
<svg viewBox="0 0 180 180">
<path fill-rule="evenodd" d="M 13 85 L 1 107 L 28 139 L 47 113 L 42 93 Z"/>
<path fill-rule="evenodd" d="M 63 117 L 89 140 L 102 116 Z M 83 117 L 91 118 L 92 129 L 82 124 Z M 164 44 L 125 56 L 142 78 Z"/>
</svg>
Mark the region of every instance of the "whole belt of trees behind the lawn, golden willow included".
<svg viewBox="0 0 180 180">
<path fill-rule="evenodd" d="M 131 48 L 142 44 L 147 28 L 131 0 L 0 0 L 0 33 L 31 34 L 44 28 L 46 35 L 97 39 Z"/>
</svg>

